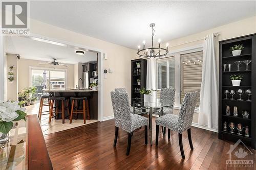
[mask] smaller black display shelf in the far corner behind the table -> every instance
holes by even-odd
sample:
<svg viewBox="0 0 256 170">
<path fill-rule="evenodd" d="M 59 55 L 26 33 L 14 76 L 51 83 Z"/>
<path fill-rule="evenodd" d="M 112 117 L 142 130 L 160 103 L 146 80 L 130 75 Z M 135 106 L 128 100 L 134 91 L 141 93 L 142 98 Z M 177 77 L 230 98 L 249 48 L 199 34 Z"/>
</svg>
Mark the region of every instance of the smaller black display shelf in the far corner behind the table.
<svg viewBox="0 0 256 170">
<path fill-rule="evenodd" d="M 140 63 L 138 67 L 136 63 Z M 143 98 L 143 95 L 140 94 L 139 90 L 146 88 L 146 66 L 147 60 L 145 59 L 136 59 L 132 60 L 132 94 L 131 98 Z M 140 79 L 140 84 L 138 84 L 137 80 Z"/>
</svg>

